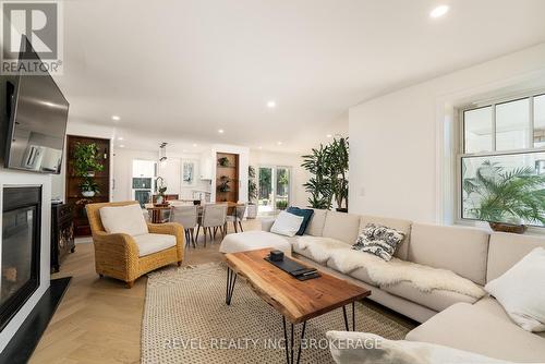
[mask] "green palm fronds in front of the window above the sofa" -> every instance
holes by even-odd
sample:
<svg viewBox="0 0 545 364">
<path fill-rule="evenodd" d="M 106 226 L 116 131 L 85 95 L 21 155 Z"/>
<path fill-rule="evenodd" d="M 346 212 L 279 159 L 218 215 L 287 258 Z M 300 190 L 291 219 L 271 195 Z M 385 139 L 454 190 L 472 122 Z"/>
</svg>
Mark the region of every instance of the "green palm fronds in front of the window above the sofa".
<svg viewBox="0 0 545 364">
<path fill-rule="evenodd" d="M 531 167 L 506 170 L 486 160 L 463 180 L 469 217 L 489 222 L 545 226 L 545 175 Z"/>
</svg>

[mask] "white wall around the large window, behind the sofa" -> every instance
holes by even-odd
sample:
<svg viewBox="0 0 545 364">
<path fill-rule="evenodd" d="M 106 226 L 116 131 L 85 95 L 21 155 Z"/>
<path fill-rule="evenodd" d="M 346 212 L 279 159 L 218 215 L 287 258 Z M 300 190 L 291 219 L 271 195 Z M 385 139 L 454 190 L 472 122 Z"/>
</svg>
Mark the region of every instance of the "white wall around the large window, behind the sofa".
<svg viewBox="0 0 545 364">
<path fill-rule="evenodd" d="M 545 44 L 352 107 L 350 211 L 453 222 L 456 107 L 538 86 Z"/>
</svg>

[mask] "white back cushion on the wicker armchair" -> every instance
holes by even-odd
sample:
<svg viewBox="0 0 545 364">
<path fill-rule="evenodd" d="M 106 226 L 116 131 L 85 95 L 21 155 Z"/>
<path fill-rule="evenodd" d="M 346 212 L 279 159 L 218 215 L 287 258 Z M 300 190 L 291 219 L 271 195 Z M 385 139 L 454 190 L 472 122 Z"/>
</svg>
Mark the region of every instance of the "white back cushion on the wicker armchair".
<svg viewBox="0 0 545 364">
<path fill-rule="evenodd" d="M 138 204 L 107 206 L 99 210 L 100 220 L 108 233 L 125 233 L 132 236 L 147 234 L 147 223 Z"/>
</svg>

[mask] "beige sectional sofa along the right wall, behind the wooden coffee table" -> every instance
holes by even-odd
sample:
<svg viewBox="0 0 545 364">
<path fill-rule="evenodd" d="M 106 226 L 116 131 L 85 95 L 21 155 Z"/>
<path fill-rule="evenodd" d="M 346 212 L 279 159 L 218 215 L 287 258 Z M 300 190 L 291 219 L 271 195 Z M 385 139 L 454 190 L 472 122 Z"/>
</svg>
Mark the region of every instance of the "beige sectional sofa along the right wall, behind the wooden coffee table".
<svg viewBox="0 0 545 364">
<path fill-rule="evenodd" d="M 451 270 L 479 286 L 502 275 L 532 248 L 545 247 L 545 239 L 537 236 L 491 234 L 475 228 L 412 223 L 403 219 L 327 210 L 315 210 L 305 234 L 352 245 L 360 230 L 368 223 L 385 225 L 405 233 L 395 254 L 398 258 Z M 293 244 L 296 236 L 270 233 L 271 225 L 272 221 L 263 221 L 264 231 L 254 231 L 251 238 L 244 235 L 246 233 L 229 234 L 220 251 L 261 248 L 262 240 L 268 246 L 284 251 L 291 246 L 300 259 L 371 289 L 371 300 L 422 323 L 409 332 L 407 340 L 444 344 L 514 362 L 545 362 L 545 335 L 531 333 L 517 326 L 493 298 L 476 300 L 446 290 L 424 293 L 410 282 L 375 287 L 365 268 L 344 275 L 331 259 L 318 264 L 307 251 L 298 250 Z"/>
</svg>

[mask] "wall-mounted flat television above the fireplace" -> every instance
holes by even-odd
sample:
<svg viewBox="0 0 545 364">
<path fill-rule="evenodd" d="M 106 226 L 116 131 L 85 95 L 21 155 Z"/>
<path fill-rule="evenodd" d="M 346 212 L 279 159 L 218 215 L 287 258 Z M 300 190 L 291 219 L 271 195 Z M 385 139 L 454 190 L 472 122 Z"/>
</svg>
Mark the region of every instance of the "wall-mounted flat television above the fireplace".
<svg viewBox="0 0 545 364">
<path fill-rule="evenodd" d="M 19 62 L 40 62 L 23 36 Z M 49 73 L 20 71 L 8 82 L 8 135 L 4 167 L 60 173 L 69 102 Z"/>
</svg>

